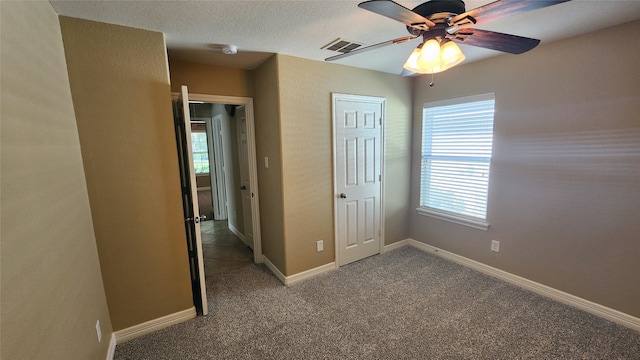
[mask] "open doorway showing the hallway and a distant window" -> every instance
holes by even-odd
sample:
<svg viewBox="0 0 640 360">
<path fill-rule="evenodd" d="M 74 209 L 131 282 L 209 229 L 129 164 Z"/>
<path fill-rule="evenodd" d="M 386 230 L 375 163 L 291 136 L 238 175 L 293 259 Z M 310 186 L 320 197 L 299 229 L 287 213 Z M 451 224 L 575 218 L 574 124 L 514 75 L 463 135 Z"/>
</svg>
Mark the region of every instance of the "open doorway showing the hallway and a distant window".
<svg viewBox="0 0 640 360">
<path fill-rule="evenodd" d="M 190 99 L 204 272 L 210 277 L 255 258 L 247 107 Z"/>
</svg>

